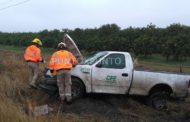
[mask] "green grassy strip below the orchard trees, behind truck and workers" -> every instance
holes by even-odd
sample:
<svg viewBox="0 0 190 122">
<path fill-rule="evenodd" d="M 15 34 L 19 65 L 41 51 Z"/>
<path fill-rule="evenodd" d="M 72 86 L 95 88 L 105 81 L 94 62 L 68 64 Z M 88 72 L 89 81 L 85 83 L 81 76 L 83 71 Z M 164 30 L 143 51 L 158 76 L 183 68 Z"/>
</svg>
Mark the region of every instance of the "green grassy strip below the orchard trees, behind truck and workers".
<svg viewBox="0 0 190 122">
<path fill-rule="evenodd" d="M 0 45 L 0 50 L 6 50 L 9 52 L 23 53 L 26 47 L 15 47 L 15 46 L 5 46 Z M 52 48 L 42 48 L 43 55 L 51 55 L 56 49 Z M 84 56 L 89 56 L 91 53 L 86 51 L 81 51 Z M 156 70 L 156 71 L 169 71 L 169 72 L 180 72 L 180 69 L 183 73 L 190 74 L 190 58 L 184 61 L 175 61 L 175 60 L 165 60 L 159 54 L 154 54 L 147 58 L 135 58 L 136 69 L 146 69 L 146 70 Z"/>
</svg>

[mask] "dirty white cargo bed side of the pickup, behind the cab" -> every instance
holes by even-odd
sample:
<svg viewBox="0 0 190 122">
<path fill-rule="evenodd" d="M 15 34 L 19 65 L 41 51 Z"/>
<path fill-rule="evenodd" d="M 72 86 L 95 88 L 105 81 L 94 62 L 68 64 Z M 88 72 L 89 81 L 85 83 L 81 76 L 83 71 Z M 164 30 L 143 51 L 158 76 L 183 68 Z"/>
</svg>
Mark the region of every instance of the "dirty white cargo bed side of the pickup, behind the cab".
<svg viewBox="0 0 190 122">
<path fill-rule="evenodd" d="M 171 90 L 173 97 L 188 95 L 188 74 L 135 70 L 130 94 L 148 95 L 151 89 L 163 85 Z"/>
</svg>

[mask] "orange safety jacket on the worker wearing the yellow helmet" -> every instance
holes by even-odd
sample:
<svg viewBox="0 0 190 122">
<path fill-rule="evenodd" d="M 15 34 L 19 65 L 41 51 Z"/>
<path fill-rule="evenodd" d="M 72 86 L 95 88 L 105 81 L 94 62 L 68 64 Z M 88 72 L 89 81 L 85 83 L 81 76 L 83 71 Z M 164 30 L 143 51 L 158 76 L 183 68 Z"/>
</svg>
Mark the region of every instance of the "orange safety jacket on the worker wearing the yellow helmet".
<svg viewBox="0 0 190 122">
<path fill-rule="evenodd" d="M 41 50 L 35 45 L 30 45 L 26 48 L 24 53 L 25 61 L 39 62 L 42 60 Z"/>
</svg>

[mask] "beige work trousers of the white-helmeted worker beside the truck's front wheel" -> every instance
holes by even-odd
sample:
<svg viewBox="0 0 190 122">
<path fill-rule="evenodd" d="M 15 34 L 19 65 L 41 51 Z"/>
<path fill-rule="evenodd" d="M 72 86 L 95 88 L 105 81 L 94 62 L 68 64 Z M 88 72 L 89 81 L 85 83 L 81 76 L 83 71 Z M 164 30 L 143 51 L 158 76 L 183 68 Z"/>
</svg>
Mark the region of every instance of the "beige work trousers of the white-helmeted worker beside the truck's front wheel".
<svg viewBox="0 0 190 122">
<path fill-rule="evenodd" d="M 71 72 L 70 70 L 59 70 L 57 72 L 57 85 L 59 87 L 59 95 L 61 100 L 72 99 L 71 95 Z"/>
</svg>

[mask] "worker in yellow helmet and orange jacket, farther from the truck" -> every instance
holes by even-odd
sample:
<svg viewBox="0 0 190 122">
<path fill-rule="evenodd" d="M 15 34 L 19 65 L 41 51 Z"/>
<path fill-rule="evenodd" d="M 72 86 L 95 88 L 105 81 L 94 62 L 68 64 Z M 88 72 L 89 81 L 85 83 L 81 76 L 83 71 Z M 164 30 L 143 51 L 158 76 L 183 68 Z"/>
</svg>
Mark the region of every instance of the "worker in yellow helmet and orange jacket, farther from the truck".
<svg viewBox="0 0 190 122">
<path fill-rule="evenodd" d="M 41 57 L 40 46 L 42 46 L 41 40 L 35 38 L 31 44 L 27 47 L 24 53 L 24 59 L 31 69 L 30 74 L 30 86 L 36 88 L 36 81 L 39 75 L 39 62 L 45 63 Z"/>
</svg>

